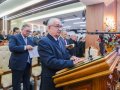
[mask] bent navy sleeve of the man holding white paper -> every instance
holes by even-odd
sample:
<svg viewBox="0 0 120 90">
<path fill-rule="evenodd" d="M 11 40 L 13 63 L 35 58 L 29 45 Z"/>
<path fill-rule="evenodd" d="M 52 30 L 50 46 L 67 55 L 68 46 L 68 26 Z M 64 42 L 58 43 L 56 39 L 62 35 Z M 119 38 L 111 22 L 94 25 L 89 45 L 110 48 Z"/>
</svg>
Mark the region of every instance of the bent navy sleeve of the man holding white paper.
<svg viewBox="0 0 120 90">
<path fill-rule="evenodd" d="M 9 40 L 9 49 L 11 52 L 25 52 L 24 47 L 24 45 L 17 45 L 17 39 L 15 38 L 15 36 L 11 36 Z"/>
</svg>

